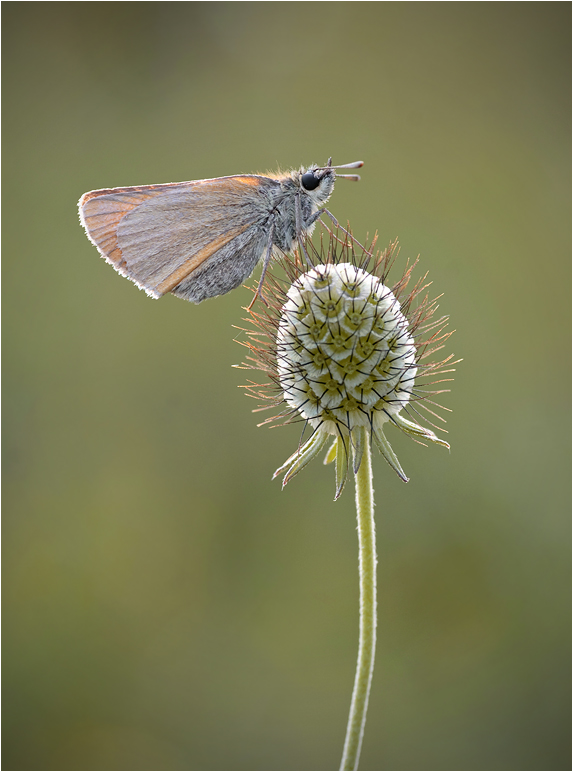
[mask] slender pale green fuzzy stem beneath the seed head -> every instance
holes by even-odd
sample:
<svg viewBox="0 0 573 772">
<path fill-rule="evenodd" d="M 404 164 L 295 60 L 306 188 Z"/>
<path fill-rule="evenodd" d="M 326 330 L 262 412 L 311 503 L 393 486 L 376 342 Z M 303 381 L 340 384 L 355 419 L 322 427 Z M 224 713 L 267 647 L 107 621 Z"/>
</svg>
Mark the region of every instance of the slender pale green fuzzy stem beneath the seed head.
<svg viewBox="0 0 573 772">
<path fill-rule="evenodd" d="M 354 431 L 363 433 L 364 447 L 360 467 L 355 473 L 360 571 L 360 635 L 352 703 L 340 762 L 341 770 L 358 769 L 376 650 L 376 529 L 370 437 L 364 427 Z"/>
</svg>

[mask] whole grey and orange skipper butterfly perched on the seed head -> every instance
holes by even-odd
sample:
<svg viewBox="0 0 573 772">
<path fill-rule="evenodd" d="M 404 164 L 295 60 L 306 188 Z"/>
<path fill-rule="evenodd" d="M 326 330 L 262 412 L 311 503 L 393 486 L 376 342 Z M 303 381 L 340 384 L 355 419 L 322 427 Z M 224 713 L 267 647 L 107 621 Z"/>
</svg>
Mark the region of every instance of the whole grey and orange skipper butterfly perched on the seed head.
<svg viewBox="0 0 573 772">
<path fill-rule="evenodd" d="M 338 225 L 324 208 L 335 178 L 360 177 L 337 170 L 362 165 L 329 159 L 274 175 L 92 190 L 79 201 L 80 221 L 101 256 L 153 298 L 224 295 L 263 260 L 254 302 L 273 254 L 302 244 L 323 213 Z"/>
</svg>

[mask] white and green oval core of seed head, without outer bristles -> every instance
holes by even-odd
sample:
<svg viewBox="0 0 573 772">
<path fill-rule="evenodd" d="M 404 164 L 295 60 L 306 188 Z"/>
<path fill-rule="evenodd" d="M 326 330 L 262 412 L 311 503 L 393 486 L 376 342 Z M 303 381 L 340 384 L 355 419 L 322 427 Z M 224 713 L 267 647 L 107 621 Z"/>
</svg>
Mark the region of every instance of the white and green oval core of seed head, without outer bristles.
<svg viewBox="0 0 573 772">
<path fill-rule="evenodd" d="M 376 276 L 351 263 L 298 277 L 277 335 L 285 401 L 314 429 L 339 436 L 381 427 L 408 404 L 416 348 L 400 304 Z"/>
</svg>

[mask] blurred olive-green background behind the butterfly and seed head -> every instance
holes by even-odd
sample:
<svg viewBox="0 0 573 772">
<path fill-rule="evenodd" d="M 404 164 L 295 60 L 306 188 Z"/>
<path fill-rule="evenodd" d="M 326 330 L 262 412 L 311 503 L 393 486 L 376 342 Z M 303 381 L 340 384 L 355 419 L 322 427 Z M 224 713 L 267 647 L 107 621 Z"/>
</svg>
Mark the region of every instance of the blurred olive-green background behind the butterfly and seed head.
<svg viewBox="0 0 573 772">
<path fill-rule="evenodd" d="M 299 429 L 237 388 L 248 292 L 152 301 L 76 210 L 332 155 L 365 161 L 332 211 L 421 254 L 464 358 L 451 454 L 374 460 L 361 768 L 570 769 L 570 4 L 2 10 L 3 768 L 338 768 L 352 490 L 271 482 Z"/>
</svg>

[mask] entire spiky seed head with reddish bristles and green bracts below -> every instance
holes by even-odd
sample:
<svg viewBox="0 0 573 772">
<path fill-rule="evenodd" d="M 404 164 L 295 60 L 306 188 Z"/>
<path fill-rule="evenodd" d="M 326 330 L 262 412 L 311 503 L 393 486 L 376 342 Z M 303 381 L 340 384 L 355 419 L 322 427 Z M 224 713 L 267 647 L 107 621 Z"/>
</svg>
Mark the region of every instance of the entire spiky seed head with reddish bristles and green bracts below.
<svg viewBox="0 0 573 772">
<path fill-rule="evenodd" d="M 433 397 L 444 390 L 428 390 L 428 376 L 432 387 L 441 383 L 434 377 L 450 372 L 445 365 L 453 364 L 452 356 L 440 362 L 423 360 L 449 337 L 444 331 L 447 317 L 433 319 L 437 304 L 425 293 L 426 277 L 406 292 L 414 266 L 387 286 L 396 244 L 382 254 L 374 254 L 373 246 L 360 247 L 349 234 L 343 240 L 330 234 L 320 252 L 306 241 L 304 267 L 299 253 L 293 260 L 285 257 L 287 282 L 271 279 L 268 309 L 250 312 L 254 329 L 247 330 L 245 345 L 251 355 L 245 366 L 262 370 L 268 380 L 251 383 L 248 390 L 270 401 L 265 407 L 282 406 L 264 423 L 303 421 L 311 430 L 310 438 L 304 443 L 301 439 L 297 451 L 275 472 L 275 477 L 284 473 L 283 485 L 331 440 L 325 463 L 336 460 L 338 498 L 351 446 L 355 471 L 360 465 L 361 427 L 368 429 L 404 482 L 408 478 L 386 439 L 385 424 L 394 424 L 417 441 L 449 448 L 432 429 L 403 415 L 421 417 L 419 409 L 425 408 L 443 421 L 429 405 L 435 406 Z"/>
</svg>

